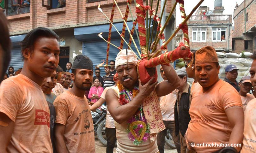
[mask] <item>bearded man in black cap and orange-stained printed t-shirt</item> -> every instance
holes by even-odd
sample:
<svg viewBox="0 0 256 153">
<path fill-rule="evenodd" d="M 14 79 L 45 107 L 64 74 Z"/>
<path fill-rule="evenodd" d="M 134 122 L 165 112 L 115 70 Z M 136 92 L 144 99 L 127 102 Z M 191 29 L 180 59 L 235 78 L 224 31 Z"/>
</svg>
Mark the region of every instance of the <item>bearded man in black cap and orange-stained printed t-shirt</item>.
<svg viewBox="0 0 256 153">
<path fill-rule="evenodd" d="M 73 87 L 55 101 L 57 152 L 95 152 L 94 127 L 85 91 L 93 80 L 93 63 L 83 55 L 76 56 L 72 65 Z"/>
</svg>

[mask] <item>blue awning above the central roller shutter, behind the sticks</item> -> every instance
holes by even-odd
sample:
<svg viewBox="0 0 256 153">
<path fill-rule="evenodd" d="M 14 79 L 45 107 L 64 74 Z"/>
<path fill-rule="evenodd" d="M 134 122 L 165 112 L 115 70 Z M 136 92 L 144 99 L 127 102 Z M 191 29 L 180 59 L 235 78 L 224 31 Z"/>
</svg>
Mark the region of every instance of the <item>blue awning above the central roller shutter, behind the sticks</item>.
<svg viewBox="0 0 256 153">
<path fill-rule="evenodd" d="M 132 23 L 133 22 L 127 22 L 127 25 L 130 30 L 133 26 Z M 122 32 L 123 22 L 122 23 L 114 23 L 114 26 L 119 30 L 120 33 Z M 152 27 L 152 25 L 151 25 L 151 27 Z M 136 25 L 136 28 L 138 28 L 138 25 Z M 101 38 L 99 38 L 97 36 L 101 32 L 103 32 L 102 37 L 107 39 L 108 30 L 109 30 L 109 24 L 79 27 L 79 28 L 74 29 L 74 35 L 75 35 L 75 38 L 79 41 L 96 41 L 96 40 L 102 40 Z M 127 28 L 126 28 L 126 32 L 125 32 L 125 37 L 130 37 L 129 33 L 127 32 Z M 133 37 L 137 38 L 136 32 L 134 32 Z M 111 38 L 120 38 L 118 32 L 116 32 L 116 30 L 113 26 L 112 26 Z"/>
</svg>

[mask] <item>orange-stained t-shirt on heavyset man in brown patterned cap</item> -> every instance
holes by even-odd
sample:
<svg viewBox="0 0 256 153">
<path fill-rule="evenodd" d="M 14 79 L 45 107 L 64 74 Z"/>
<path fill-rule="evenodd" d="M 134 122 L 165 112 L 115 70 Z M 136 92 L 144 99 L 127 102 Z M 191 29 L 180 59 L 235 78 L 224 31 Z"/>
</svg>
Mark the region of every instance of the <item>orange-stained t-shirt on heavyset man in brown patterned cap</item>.
<svg viewBox="0 0 256 153">
<path fill-rule="evenodd" d="M 191 121 L 188 124 L 186 140 L 189 144 L 216 143 L 228 144 L 232 131 L 225 109 L 242 106 L 240 95 L 229 83 L 219 80 L 208 91 L 203 93 L 202 86 L 193 90 L 189 108 Z M 211 153 L 223 147 L 197 147 L 197 152 Z"/>
</svg>

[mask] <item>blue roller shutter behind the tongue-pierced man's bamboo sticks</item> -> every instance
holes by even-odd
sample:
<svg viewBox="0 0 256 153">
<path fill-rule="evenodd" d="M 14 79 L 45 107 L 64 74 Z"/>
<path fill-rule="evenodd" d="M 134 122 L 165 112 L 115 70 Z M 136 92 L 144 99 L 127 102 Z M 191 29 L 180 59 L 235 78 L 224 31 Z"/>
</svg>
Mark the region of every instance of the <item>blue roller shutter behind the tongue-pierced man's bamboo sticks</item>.
<svg viewBox="0 0 256 153">
<path fill-rule="evenodd" d="M 129 39 L 126 41 L 128 42 Z M 136 42 L 136 45 L 140 51 L 140 46 L 139 46 L 138 40 L 135 39 L 134 41 Z M 120 39 L 112 39 L 111 43 L 116 46 L 120 46 Z M 124 42 L 123 49 L 126 49 L 126 46 L 127 45 L 125 45 L 125 42 Z M 105 41 L 101 40 L 101 41 L 83 42 L 82 48 L 83 48 L 83 55 L 88 56 L 92 60 L 94 68 L 98 64 L 102 63 L 101 60 L 104 60 L 106 63 L 107 43 Z M 138 55 L 133 43 L 131 43 L 131 48 Z M 110 45 L 108 63 L 111 60 L 115 61 L 118 52 L 119 52 L 119 50 L 116 47 Z M 103 76 L 105 74 L 104 67 L 101 67 L 101 72 L 103 72 L 103 73 L 101 73 L 101 76 Z"/>
</svg>

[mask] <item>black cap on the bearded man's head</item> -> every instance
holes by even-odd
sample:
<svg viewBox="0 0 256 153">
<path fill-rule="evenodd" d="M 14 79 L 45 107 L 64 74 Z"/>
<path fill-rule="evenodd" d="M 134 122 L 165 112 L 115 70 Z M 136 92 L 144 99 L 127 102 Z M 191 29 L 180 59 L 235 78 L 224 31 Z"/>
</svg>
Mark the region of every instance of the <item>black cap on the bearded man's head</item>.
<svg viewBox="0 0 256 153">
<path fill-rule="evenodd" d="M 89 57 L 77 55 L 71 67 L 71 70 L 73 69 L 88 69 L 93 71 L 93 63 Z"/>
</svg>

